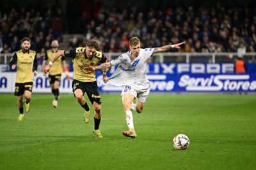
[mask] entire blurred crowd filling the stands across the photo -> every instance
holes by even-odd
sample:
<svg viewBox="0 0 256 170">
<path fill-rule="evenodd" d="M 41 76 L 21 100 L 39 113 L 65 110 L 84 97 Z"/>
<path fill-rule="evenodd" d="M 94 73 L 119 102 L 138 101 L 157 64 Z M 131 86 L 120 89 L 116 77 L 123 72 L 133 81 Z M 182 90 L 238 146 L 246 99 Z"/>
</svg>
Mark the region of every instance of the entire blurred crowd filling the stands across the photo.
<svg viewBox="0 0 256 170">
<path fill-rule="evenodd" d="M 99 39 L 103 52 L 125 52 L 129 38 L 138 36 L 143 47 L 186 41 L 180 52 L 255 52 L 256 6 L 214 3 L 154 3 L 111 7 L 108 1 L 68 1 L 52 8 L 12 8 L 0 13 L 0 51 L 19 50 L 20 39 L 31 38 L 31 49 L 45 52 L 51 40 L 77 33 L 68 48 Z M 122 8 L 121 8 L 122 7 Z M 63 19 L 65 18 L 65 19 Z"/>
</svg>

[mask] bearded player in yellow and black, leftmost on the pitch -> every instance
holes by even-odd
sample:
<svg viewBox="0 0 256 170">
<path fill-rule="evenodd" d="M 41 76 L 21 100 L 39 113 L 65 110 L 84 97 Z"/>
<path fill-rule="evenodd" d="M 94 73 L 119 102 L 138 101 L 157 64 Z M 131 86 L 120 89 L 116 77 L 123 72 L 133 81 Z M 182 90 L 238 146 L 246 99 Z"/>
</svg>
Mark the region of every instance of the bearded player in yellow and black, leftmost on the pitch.
<svg viewBox="0 0 256 170">
<path fill-rule="evenodd" d="M 36 52 L 30 50 L 30 42 L 31 40 L 29 38 L 23 38 L 21 40 L 21 50 L 14 53 L 9 63 L 12 69 L 17 67 L 14 95 L 17 96 L 20 111 L 18 121 L 22 121 L 25 117 L 23 95 L 25 97 L 25 111 L 29 111 L 29 102 L 31 100 L 33 87 L 33 74 L 34 76 L 37 74 Z"/>
</svg>

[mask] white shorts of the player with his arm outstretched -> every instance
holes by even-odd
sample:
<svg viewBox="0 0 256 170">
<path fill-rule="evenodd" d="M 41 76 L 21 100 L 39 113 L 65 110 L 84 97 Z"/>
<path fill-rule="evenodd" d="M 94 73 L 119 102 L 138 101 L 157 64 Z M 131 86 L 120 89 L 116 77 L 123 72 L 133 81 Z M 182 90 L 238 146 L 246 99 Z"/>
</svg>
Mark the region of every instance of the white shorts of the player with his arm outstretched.
<svg viewBox="0 0 256 170">
<path fill-rule="evenodd" d="M 121 96 L 123 96 L 123 94 L 125 93 L 130 93 L 134 97 L 136 97 L 138 101 L 140 101 L 141 103 L 145 103 L 149 92 L 150 92 L 150 82 L 145 81 L 145 82 L 132 83 L 130 85 L 123 86 Z"/>
</svg>

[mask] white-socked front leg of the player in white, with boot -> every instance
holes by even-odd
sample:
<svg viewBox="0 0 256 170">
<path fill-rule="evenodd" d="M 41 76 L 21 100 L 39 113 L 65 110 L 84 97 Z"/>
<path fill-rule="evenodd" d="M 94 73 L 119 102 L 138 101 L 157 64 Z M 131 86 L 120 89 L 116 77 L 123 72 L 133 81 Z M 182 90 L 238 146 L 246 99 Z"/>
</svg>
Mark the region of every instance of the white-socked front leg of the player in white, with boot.
<svg viewBox="0 0 256 170">
<path fill-rule="evenodd" d="M 125 93 L 122 96 L 124 112 L 125 112 L 125 120 L 129 127 L 129 131 L 123 131 L 123 134 L 124 136 L 130 137 L 130 138 L 136 138 L 137 136 L 134 130 L 133 117 L 132 117 L 132 111 L 131 111 L 131 104 L 133 99 L 134 99 L 134 96 L 129 93 Z"/>
</svg>

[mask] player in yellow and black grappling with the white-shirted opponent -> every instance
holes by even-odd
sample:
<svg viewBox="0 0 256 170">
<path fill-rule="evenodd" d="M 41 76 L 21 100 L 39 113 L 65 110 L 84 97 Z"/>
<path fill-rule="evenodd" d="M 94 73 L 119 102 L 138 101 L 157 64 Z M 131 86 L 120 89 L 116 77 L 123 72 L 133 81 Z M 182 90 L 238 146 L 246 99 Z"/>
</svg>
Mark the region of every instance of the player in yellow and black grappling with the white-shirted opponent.
<svg viewBox="0 0 256 170">
<path fill-rule="evenodd" d="M 97 138 L 102 138 L 99 131 L 101 118 L 101 99 L 98 90 L 97 81 L 95 78 L 95 71 L 86 71 L 89 66 L 97 66 L 98 63 L 104 63 L 107 58 L 102 52 L 99 52 L 98 41 L 91 39 L 86 43 L 86 47 L 79 47 L 74 50 L 59 50 L 51 62 L 44 67 L 46 74 L 52 67 L 53 63 L 61 56 L 71 57 L 73 59 L 74 67 L 74 81 L 72 82 L 73 93 L 78 103 L 84 108 L 84 122 L 88 123 L 90 120 L 90 108 L 84 99 L 84 93 L 87 94 L 90 102 L 95 110 L 94 112 L 94 129 L 93 133 Z M 103 73 L 103 79 L 106 78 L 106 70 Z"/>
</svg>

